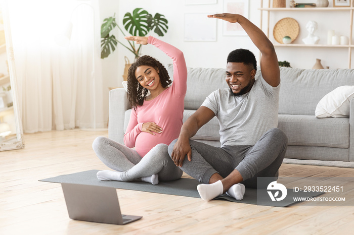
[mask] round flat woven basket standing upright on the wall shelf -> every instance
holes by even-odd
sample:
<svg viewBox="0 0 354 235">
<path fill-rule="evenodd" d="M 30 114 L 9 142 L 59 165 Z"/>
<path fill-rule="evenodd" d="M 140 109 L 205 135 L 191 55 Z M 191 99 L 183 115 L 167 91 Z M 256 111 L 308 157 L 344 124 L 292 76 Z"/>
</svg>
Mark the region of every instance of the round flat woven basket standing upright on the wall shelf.
<svg viewBox="0 0 354 235">
<path fill-rule="evenodd" d="M 283 43 L 283 38 L 285 36 L 289 36 L 291 38 L 291 42 L 293 42 L 297 36 L 299 35 L 300 27 L 296 20 L 293 18 L 283 18 L 278 21 L 273 29 L 274 39 L 281 43 Z"/>
</svg>

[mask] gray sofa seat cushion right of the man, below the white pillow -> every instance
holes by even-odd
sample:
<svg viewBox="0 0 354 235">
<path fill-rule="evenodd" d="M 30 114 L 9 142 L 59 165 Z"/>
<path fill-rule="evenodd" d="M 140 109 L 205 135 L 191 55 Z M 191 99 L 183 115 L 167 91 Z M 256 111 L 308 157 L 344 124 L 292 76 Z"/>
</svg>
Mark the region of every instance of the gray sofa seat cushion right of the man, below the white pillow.
<svg viewBox="0 0 354 235">
<path fill-rule="evenodd" d="M 278 128 L 289 145 L 349 147 L 349 119 L 317 119 L 315 115 L 279 114 Z"/>
</svg>

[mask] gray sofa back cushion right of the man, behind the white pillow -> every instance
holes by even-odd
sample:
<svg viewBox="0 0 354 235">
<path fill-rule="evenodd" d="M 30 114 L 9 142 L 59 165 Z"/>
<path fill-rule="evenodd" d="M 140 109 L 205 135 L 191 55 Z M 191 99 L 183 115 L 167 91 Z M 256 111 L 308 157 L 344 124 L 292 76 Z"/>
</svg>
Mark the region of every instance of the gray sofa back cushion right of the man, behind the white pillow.
<svg viewBox="0 0 354 235">
<path fill-rule="evenodd" d="M 314 115 L 318 102 L 330 91 L 354 85 L 354 70 L 280 68 L 280 114 Z"/>
</svg>

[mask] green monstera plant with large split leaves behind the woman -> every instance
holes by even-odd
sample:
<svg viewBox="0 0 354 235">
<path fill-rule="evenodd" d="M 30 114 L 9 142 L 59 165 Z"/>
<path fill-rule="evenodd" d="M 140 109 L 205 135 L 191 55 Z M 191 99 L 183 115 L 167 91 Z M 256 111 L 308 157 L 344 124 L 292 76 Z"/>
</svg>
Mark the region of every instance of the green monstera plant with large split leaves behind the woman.
<svg viewBox="0 0 354 235">
<path fill-rule="evenodd" d="M 153 17 L 147 11 L 142 8 L 135 9 L 132 14 L 126 13 L 123 18 L 123 26 L 125 30 L 129 33 L 129 35 L 133 36 L 146 36 L 150 31 L 154 31 L 157 35 L 163 36 L 164 33 L 167 32 L 168 21 L 166 20 L 164 15 L 156 13 Z M 110 55 L 117 47 L 117 44 L 120 43 L 125 48 L 134 53 L 135 57 L 139 57 L 141 45 L 137 48 L 136 45 L 131 42 L 129 46 L 126 46 L 122 42 L 116 39 L 113 34 L 110 32 L 117 27 L 120 32 L 125 36 L 122 29 L 116 23 L 115 14 L 113 17 L 109 17 L 104 19 L 103 24 L 101 26 L 101 58 L 106 58 Z"/>
</svg>

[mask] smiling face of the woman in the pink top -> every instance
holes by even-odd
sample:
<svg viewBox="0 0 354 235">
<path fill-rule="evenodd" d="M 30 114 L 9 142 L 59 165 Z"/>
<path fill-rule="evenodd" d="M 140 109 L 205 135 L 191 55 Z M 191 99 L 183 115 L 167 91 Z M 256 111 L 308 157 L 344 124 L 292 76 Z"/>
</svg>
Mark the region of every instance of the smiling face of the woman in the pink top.
<svg viewBox="0 0 354 235">
<path fill-rule="evenodd" d="M 142 65 L 135 71 L 135 77 L 140 85 L 149 90 L 155 90 L 161 86 L 159 71 L 154 67 Z"/>
</svg>

